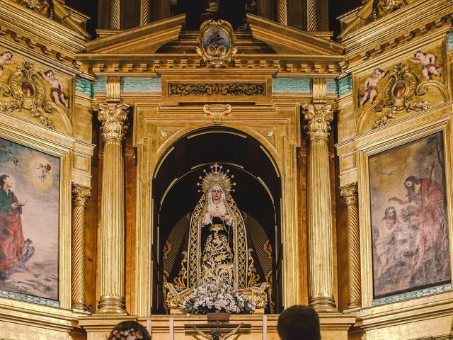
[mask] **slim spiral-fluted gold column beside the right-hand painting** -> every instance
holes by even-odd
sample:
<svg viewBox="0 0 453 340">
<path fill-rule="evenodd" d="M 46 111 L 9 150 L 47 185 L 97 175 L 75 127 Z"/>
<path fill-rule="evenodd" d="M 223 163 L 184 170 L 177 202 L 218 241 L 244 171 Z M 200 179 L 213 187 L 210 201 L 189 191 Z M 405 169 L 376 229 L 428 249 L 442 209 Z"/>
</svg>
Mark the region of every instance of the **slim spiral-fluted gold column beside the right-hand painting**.
<svg viewBox="0 0 453 340">
<path fill-rule="evenodd" d="M 341 188 L 340 195 L 345 199 L 348 209 L 348 308 L 362 307 L 362 292 L 360 282 L 360 231 L 359 208 L 357 207 L 357 184 Z"/>
</svg>

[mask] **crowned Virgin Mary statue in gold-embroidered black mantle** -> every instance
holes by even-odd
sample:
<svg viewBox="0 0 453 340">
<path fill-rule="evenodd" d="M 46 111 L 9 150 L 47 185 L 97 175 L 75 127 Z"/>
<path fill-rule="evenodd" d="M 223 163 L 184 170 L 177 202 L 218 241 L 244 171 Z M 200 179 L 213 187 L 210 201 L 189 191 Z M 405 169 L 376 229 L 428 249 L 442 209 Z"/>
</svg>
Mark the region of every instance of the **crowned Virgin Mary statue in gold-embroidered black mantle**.
<svg viewBox="0 0 453 340">
<path fill-rule="evenodd" d="M 246 288 L 247 242 L 241 212 L 231 197 L 234 176 L 217 163 L 201 177 L 202 196 L 190 220 L 189 287 L 223 281 Z"/>
</svg>

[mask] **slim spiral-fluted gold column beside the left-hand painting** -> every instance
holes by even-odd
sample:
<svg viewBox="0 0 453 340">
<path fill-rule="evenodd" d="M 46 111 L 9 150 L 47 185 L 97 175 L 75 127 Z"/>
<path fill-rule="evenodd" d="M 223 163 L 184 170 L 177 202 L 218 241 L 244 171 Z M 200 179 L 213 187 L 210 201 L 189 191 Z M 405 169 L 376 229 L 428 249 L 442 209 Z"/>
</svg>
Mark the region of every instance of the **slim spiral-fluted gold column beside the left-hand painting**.
<svg viewBox="0 0 453 340">
<path fill-rule="evenodd" d="M 85 310 L 85 210 L 91 188 L 74 184 L 72 187 L 72 308 Z"/>
</svg>

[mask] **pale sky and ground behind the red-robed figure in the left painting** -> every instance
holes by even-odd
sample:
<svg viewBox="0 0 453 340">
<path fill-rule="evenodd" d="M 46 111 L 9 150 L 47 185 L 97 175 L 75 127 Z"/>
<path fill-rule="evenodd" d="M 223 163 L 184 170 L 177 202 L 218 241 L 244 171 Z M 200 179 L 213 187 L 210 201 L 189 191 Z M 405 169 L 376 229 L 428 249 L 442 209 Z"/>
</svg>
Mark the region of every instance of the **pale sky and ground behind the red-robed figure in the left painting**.
<svg viewBox="0 0 453 340">
<path fill-rule="evenodd" d="M 58 300 L 59 158 L 0 138 L 0 174 L 22 208 L 23 236 L 35 253 L 24 268 L 10 268 L 0 289 Z M 1 189 L 0 189 L 1 190 Z"/>
</svg>

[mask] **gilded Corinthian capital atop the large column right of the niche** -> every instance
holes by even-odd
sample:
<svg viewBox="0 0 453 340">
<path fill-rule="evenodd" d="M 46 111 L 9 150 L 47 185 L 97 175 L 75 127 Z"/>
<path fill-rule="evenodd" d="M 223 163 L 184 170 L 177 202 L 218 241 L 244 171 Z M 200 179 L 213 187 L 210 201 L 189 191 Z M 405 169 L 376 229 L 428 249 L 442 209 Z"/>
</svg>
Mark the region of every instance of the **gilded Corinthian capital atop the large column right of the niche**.
<svg viewBox="0 0 453 340">
<path fill-rule="evenodd" d="M 331 130 L 333 119 L 332 106 L 330 104 L 304 104 L 302 106 L 306 125 L 304 129 L 311 138 L 327 138 Z"/>
</svg>

